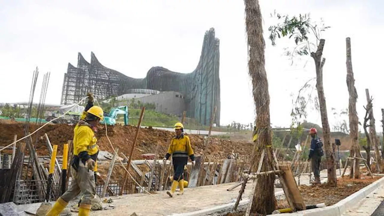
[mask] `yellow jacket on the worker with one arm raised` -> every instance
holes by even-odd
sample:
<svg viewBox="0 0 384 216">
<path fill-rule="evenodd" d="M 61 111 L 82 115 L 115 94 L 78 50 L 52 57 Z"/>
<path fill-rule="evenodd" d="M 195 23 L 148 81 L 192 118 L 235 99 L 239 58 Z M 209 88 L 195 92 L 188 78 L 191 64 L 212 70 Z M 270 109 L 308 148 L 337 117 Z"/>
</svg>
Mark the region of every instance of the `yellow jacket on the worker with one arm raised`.
<svg viewBox="0 0 384 216">
<path fill-rule="evenodd" d="M 84 120 L 87 113 L 83 112 L 80 120 Z M 73 154 L 78 156 L 82 151 L 87 151 L 88 155 L 98 153 L 99 148 L 94 131 L 88 125 L 76 125 L 73 129 Z"/>
</svg>

